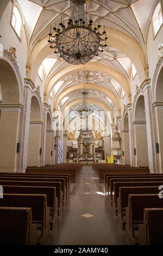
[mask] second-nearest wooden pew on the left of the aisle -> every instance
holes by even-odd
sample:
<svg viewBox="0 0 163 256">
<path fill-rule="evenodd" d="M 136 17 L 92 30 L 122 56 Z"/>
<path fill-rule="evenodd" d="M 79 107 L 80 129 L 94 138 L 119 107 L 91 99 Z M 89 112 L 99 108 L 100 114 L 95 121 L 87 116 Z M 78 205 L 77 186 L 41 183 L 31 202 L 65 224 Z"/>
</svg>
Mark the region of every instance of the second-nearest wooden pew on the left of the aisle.
<svg viewBox="0 0 163 256">
<path fill-rule="evenodd" d="M 37 224 L 37 244 L 45 243 L 50 230 L 46 194 L 3 194 L 0 206 L 32 208 L 33 223 Z"/>
</svg>

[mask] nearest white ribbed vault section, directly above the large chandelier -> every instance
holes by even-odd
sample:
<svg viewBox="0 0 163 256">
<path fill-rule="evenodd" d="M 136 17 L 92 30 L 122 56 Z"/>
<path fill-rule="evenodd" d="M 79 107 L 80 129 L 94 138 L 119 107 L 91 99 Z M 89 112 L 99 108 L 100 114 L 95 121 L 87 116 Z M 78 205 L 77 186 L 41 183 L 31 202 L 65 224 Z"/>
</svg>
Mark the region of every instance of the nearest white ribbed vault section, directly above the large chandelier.
<svg viewBox="0 0 163 256">
<path fill-rule="evenodd" d="M 27 19 L 30 31 L 33 29 L 31 36 L 31 43 L 40 40 L 43 36 L 49 33 L 49 28 L 59 23 L 61 20 L 68 20 L 72 13 L 72 5 L 70 0 L 17 0 Z M 115 28 L 118 31 L 126 33 L 135 41 L 139 42 L 145 51 L 145 34 L 148 29 L 149 15 L 153 9 L 155 0 L 89 0 L 86 11 L 87 16 L 93 22 L 100 22 L 101 25 Z M 34 3 L 38 5 L 41 14 L 37 22 L 35 21 L 35 28 L 33 28 L 32 15 L 30 20 L 27 15 L 29 10 L 29 3 L 31 11 L 34 11 Z M 26 13 L 26 14 L 25 14 Z M 38 13 L 37 13 L 38 14 Z"/>
</svg>

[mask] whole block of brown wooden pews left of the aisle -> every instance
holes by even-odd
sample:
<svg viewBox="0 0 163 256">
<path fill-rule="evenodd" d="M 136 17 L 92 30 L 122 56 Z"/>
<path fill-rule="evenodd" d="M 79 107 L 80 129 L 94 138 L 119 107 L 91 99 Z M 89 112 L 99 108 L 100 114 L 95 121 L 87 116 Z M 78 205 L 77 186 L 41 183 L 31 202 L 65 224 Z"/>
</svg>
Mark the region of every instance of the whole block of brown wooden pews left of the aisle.
<svg viewBox="0 0 163 256">
<path fill-rule="evenodd" d="M 81 169 L 81 164 L 58 164 L 0 172 L 0 244 L 45 244 Z"/>
</svg>

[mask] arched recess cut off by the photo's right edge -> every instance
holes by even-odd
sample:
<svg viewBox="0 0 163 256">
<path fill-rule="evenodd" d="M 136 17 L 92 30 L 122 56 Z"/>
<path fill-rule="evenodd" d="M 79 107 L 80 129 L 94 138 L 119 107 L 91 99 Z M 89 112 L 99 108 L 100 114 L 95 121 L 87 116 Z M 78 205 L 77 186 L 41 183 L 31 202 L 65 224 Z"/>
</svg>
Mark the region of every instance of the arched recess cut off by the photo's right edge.
<svg viewBox="0 0 163 256">
<path fill-rule="evenodd" d="M 163 172 L 163 66 L 156 82 L 154 108 L 157 130 L 156 152 L 159 154 L 159 171 Z"/>
</svg>

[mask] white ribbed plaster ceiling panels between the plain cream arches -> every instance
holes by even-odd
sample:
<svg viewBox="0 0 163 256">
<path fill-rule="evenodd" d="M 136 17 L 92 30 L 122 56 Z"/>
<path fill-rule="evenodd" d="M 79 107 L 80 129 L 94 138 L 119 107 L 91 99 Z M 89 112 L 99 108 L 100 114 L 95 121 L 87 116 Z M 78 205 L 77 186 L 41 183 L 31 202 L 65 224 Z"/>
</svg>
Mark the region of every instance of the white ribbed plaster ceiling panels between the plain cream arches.
<svg viewBox="0 0 163 256">
<path fill-rule="evenodd" d="M 55 23 L 58 26 L 61 17 L 62 20 L 65 20 L 66 24 L 68 17 L 72 13 L 70 0 L 17 0 L 17 2 L 21 7 L 26 22 L 29 52 L 32 52 L 32 48 L 37 42 L 48 35 L 51 26 L 54 27 Z M 130 38 L 140 44 L 146 56 L 146 36 L 149 17 L 156 2 L 156 0 L 89 0 L 86 6 L 86 13 L 89 19 L 91 15 L 91 19 L 96 24 L 99 22 L 101 25 L 114 28 L 130 36 Z M 59 54 L 54 54 L 53 52 L 46 58 L 58 59 L 47 74 L 47 84 L 53 75 L 70 64 L 62 60 Z M 131 61 L 123 52 L 114 48 L 114 45 L 109 46 L 109 38 L 106 50 L 103 53 L 99 53 L 98 57 L 95 56 L 91 62 L 108 65 L 118 70 L 129 80 Z M 66 87 L 71 87 L 76 83 L 84 83 L 85 78 L 81 71 L 78 74 L 65 76 L 63 81 L 64 83 L 55 92 L 54 100 L 57 100 L 57 96 Z M 88 83 L 100 84 L 103 87 L 109 88 L 116 95 L 117 99 L 120 98 L 121 84 L 118 84 L 117 81 L 112 80 L 111 77 L 105 74 L 92 71 L 91 75 L 90 72 Z M 67 101 L 68 99 L 65 100 L 63 105 Z"/>
</svg>

